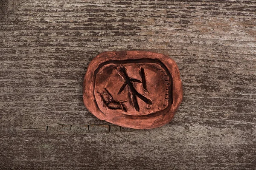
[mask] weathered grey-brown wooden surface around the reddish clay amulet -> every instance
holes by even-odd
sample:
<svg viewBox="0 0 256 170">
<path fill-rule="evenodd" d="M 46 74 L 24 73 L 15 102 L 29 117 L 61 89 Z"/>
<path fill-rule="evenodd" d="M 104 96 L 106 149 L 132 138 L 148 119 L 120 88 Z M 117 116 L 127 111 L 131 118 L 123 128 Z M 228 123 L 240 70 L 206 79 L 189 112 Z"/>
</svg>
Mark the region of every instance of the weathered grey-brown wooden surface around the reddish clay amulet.
<svg viewBox="0 0 256 170">
<path fill-rule="evenodd" d="M 82 101 L 103 51 L 177 62 L 168 125 L 132 130 Z M 1 0 L 0 169 L 255 170 L 255 0 Z"/>
</svg>

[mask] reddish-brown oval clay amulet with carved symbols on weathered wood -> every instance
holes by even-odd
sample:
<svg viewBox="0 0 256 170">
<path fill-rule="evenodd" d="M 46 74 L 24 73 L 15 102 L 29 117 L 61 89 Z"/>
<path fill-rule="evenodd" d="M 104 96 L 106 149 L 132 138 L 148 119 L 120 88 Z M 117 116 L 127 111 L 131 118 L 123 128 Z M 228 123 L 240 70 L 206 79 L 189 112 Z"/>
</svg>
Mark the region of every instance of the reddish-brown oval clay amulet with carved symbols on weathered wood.
<svg viewBox="0 0 256 170">
<path fill-rule="evenodd" d="M 149 51 L 111 51 L 90 62 L 84 105 L 97 118 L 122 127 L 151 129 L 169 123 L 182 101 L 177 64 Z"/>
</svg>

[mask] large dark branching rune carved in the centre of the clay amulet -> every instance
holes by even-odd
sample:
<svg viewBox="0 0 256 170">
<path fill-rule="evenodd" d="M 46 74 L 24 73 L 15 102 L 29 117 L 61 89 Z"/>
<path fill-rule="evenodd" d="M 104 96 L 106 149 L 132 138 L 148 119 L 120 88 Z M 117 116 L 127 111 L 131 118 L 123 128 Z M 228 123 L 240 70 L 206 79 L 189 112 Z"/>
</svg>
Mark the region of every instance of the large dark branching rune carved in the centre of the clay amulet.
<svg viewBox="0 0 256 170">
<path fill-rule="evenodd" d="M 130 88 L 129 91 L 129 95 L 130 95 L 130 99 L 131 99 L 131 103 L 134 105 L 134 108 L 136 111 L 140 111 L 140 107 L 138 105 L 138 101 L 137 101 L 137 97 L 140 98 L 143 102 L 145 102 L 148 105 L 152 105 L 152 102 L 150 99 L 146 98 L 145 96 L 143 96 L 142 94 L 140 94 L 133 85 L 133 82 L 139 82 L 143 84 L 143 89 L 147 91 L 146 88 L 146 80 L 145 80 L 145 71 L 143 68 L 141 68 L 140 70 L 140 76 L 142 77 L 142 82 L 138 79 L 132 79 L 128 76 L 127 72 L 126 72 L 126 68 L 124 66 L 121 66 L 119 68 L 119 73 L 121 74 L 122 78 L 125 80 L 124 84 L 122 85 L 122 87 L 120 88 L 119 92 L 117 94 L 121 94 L 122 91 L 125 89 L 126 86 L 128 86 Z"/>
</svg>

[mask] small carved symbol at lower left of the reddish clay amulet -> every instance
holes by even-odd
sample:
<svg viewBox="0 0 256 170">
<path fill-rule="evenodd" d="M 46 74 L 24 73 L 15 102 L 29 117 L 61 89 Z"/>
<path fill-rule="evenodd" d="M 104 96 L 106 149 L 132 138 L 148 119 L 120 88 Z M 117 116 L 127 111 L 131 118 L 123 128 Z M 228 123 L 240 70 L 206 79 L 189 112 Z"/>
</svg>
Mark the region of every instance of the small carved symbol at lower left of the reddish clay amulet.
<svg viewBox="0 0 256 170">
<path fill-rule="evenodd" d="M 107 88 L 104 88 L 104 90 L 106 91 L 106 93 L 100 93 L 100 92 L 97 92 L 99 93 L 99 95 L 101 96 L 104 104 L 110 108 L 110 109 L 120 109 L 124 112 L 127 112 L 127 108 L 125 106 L 125 104 L 123 102 L 126 102 L 126 101 L 117 101 L 117 100 L 114 100 L 113 99 L 113 96 L 111 95 L 111 93 L 107 90 Z"/>
</svg>

